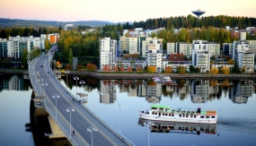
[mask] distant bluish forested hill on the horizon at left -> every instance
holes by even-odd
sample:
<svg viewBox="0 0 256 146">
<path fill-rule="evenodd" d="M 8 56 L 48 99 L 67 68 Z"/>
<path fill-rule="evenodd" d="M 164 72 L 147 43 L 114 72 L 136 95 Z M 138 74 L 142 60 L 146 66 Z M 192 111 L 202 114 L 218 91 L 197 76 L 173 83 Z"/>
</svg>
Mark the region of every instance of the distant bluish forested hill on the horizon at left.
<svg viewBox="0 0 256 146">
<path fill-rule="evenodd" d="M 104 26 L 106 24 L 116 24 L 110 21 L 32 21 L 32 20 L 18 20 L 18 19 L 5 19 L 0 18 L 0 29 L 13 28 L 13 27 L 64 27 L 66 24 L 86 25 L 91 27 Z"/>
</svg>

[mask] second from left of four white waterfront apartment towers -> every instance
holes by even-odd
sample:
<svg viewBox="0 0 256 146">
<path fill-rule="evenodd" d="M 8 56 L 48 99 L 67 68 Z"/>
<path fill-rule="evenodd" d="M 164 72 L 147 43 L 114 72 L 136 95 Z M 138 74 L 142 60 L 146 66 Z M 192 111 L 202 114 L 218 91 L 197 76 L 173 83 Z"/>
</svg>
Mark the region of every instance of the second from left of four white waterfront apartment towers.
<svg viewBox="0 0 256 146">
<path fill-rule="evenodd" d="M 161 73 L 163 59 L 163 44 L 157 39 L 150 40 L 146 46 L 146 65 L 155 66 L 156 72 Z"/>
</svg>

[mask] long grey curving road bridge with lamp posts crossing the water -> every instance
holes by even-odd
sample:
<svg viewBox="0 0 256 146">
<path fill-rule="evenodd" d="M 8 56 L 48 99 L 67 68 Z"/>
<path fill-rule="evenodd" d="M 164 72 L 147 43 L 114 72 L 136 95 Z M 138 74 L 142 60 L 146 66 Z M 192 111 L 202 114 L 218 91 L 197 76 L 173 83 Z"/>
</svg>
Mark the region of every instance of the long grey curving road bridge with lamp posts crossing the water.
<svg viewBox="0 0 256 146">
<path fill-rule="evenodd" d="M 56 123 L 66 139 L 72 145 L 134 145 L 82 102 L 77 102 L 79 99 L 75 99 L 76 96 L 68 92 L 51 71 L 51 60 L 51 56 L 42 53 L 29 62 L 29 79 L 36 94 L 35 106 L 46 109 L 51 123 Z"/>
</svg>

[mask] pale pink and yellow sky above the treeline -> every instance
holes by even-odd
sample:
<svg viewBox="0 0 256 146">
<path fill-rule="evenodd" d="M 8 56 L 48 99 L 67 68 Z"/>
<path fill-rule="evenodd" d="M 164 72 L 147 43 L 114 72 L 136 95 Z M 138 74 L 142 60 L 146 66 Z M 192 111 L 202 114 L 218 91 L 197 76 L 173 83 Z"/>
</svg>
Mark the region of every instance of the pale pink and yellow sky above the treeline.
<svg viewBox="0 0 256 146">
<path fill-rule="evenodd" d="M 0 18 L 37 21 L 146 21 L 198 9 L 256 18 L 256 0 L 0 0 Z"/>
</svg>

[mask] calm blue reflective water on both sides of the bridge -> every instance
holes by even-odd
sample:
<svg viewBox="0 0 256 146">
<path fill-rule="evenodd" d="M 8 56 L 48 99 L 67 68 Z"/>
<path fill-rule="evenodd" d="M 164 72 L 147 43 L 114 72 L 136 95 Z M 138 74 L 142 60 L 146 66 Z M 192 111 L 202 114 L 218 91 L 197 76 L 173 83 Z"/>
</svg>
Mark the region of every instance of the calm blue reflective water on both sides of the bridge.
<svg viewBox="0 0 256 146">
<path fill-rule="evenodd" d="M 172 81 L 161 85 L 152 81 L 99 81 L 80 76 L 86 83 L 76 88 L 68 76 L 72 93 L 88 94 L 86 104 L 107 124 L 138 146 L 150 145 L 256 145 L 255 81 Z M 66 77 L 61 80 L 66 85 Z M 0 75 L 0 145 L 35 145 L 30 123 L 30 83 L 20 76 Z M 99 92 L 103 96 L 100 98 Z M 214 133 L 182 130 L 153 133 L 138 124 L 138 111 L 152 104 L 171 107 L 201 107 L 218 111 Z M 119 108 L 119 106 L 122 107 Z M 160 123 L 158 123 L 161 125 Z M 154 124 L 155 125 L 155 124 Z M 167 123 L 164 125 L 181 125 Z M 181 125 L 181 127 L 187 125 Z M 189 125 L 194 127 L 211 125 Z M 166 129 L 164 129 L 166 130 Z"/>
</svg>

